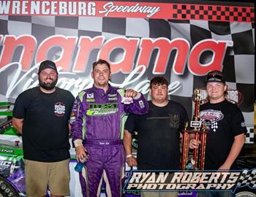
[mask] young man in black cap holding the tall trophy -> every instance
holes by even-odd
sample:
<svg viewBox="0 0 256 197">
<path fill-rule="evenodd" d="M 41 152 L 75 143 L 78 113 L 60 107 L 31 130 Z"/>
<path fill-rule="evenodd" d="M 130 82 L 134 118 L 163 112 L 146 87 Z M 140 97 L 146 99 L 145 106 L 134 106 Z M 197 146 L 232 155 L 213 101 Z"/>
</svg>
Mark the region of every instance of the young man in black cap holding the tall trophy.
<svg viewBox="0 0 256 197">
<path fill-rule="evenodd" d="M 246 125 L 241 110 L 225 99 L 227 85 L 220 71 L 206 77 L 208 103 L 200 106 L 200 120 L 208 128 L 206 139 L 206 170 L 236 169 L 236 158 L 244 145 Z M 189 147 L 197 148 L 200 142 L 190 140 Z M 219 145 L 219 143 L 222 143 Z M 233 196 L 230 192 L 199 193 L 198 196 Z"/>
</svg>

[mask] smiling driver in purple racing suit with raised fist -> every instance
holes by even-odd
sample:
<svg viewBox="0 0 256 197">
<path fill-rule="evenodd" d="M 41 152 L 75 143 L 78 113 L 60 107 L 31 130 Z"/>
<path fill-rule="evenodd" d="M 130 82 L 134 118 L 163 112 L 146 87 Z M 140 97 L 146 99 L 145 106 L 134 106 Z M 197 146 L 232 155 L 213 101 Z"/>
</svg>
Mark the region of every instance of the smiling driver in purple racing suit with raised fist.
<svg viewBox="0 0 256 197">
<path fill-rule="evenodd" d="M 148 102 L 142 94 L 113 88 L 108 83 L 110 75 L 110 63 L 101 59 L 94 62 L 94 86 L 78 94 L 72 110 L 71 131 L 77 160 L 86 163 L 79 174 L 83 196 L 99 196 L 102 179 L 108 196 L 121 196 L 126 160 L 122 119 L 126 112 L 148 112 Z"/>
</svg>

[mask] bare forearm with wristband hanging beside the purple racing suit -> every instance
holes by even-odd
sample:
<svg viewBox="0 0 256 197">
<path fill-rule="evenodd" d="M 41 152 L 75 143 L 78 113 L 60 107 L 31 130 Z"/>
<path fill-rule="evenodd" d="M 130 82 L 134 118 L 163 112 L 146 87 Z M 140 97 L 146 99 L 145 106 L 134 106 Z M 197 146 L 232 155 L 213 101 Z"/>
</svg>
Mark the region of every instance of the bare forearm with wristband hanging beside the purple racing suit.
<svg viewBox="0 0 256 197">
<path fill-rule="evenodd" d="M 137 159 L 132 156 L 132 134 L 124 130 L 124 150 L 127 153 L 127 163 L 129 166 L 137 166 Z"/>
</svg>

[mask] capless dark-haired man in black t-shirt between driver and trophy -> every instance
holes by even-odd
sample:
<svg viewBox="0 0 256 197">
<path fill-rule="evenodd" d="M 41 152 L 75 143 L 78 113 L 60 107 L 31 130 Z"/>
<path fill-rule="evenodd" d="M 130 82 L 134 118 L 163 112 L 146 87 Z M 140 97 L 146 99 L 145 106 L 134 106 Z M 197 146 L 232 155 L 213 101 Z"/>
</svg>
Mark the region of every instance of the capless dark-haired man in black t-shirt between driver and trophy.
<svg viewBox="0 0 256 197">
<path fill-rule="evenodd" d="M 124 148 L 129 166 L 140 170 L 180 169 L 180 132 L 188 121 L 181 104 L 167 99 L 168 84 L 164 77 L 150 82 L 151 101 L 146 115 L 129 114 L 125 123 Z M 132 133 L 138 131 L 137 159 L 132 156 Z M 148 193 L 141 196 L 177 196 L 177 193 Z"/>
</svg>

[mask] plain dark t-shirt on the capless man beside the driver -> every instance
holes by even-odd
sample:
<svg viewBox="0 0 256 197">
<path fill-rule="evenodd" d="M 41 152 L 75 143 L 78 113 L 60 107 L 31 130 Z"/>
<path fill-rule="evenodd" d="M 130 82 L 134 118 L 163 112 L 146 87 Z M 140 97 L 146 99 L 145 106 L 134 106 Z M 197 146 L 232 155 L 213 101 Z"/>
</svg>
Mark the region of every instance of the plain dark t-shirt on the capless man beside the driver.
<svg viewBox="0 0 256 197">
<path fill-rule="evenodd" d="M 138 131 L 138 169 L 180 169 L 180 131 L 188 121 L 187 111 L 181 104 L 169 101 L 157 107 L 148 101 L 146 115 L 129 114 L 125 129 Z"/>
</svg>

